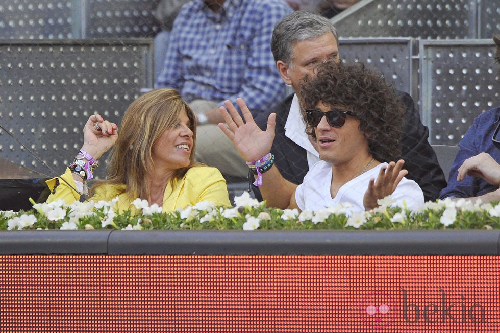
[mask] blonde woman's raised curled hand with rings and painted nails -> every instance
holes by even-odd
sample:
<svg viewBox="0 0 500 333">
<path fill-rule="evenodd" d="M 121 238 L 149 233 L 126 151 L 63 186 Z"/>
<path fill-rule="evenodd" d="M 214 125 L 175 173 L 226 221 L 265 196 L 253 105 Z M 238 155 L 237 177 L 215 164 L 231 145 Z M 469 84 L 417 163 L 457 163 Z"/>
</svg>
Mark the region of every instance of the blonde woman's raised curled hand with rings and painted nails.
<svg viewBox="0 0 500 333">
<path fill-rule="evenodd" d="M 83 128 L 82 150 L 88 152 L 98 160 L 106 153 L 118 139 L 118 126 L 101 115 L 91 115 Z"/>
</svg>

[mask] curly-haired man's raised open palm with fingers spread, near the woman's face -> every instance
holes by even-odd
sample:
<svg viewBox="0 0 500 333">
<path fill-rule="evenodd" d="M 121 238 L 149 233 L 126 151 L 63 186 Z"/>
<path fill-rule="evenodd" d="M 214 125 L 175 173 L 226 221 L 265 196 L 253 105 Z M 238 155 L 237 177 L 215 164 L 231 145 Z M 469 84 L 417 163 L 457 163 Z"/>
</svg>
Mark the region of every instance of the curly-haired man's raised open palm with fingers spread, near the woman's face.
<svg viewBox="0 0 500 333">
<path fill-rule="evenodd" d="M 254 122 L 252 113 L 242 98 L 236 103 L 241 109 L 244 120 L 230 101 L 224 102 L 226 107 L 219 108 L 226 124 L 219 123 L 219 128 L 233 142 L 238 153 L 245 161 L 256 161 L 270 152 L 274 140 L 276 113 L 271 113 L 267 119 L 267 128 L 262 131 Z"/>
</svg>

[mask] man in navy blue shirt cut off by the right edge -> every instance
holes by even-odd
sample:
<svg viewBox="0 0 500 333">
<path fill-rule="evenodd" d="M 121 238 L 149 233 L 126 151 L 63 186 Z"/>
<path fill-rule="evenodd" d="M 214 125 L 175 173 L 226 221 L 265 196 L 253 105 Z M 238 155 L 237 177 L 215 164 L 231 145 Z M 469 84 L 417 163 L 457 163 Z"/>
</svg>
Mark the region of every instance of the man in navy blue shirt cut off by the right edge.
<svg viewBox="0 0 500 333">
<path fill-rule="evenodd" d="M 493 36 L 495 62 L 500 64 L 500 35 Z M 500 70 L 498 71 L 500 75 Z M 481 113 L 460 141 L 439 198 L 500 200 L 500 107 Z"/>
</svg>

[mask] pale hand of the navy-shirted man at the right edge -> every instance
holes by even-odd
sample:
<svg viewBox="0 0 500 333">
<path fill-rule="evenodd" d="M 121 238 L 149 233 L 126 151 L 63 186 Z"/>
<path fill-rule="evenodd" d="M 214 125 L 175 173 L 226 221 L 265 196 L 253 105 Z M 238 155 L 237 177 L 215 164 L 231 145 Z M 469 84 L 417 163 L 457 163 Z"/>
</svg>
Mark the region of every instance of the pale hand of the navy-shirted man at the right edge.
<svg viewBox="0 0 500 333">
<path fill-rule="evenodd" d="M 500 165 L 488 153 L 467 158 L 458 168 L 457 180 L 464 180 L 465 175 L 482 178 L 491 185 L 500 185 Z"/>
</svg>

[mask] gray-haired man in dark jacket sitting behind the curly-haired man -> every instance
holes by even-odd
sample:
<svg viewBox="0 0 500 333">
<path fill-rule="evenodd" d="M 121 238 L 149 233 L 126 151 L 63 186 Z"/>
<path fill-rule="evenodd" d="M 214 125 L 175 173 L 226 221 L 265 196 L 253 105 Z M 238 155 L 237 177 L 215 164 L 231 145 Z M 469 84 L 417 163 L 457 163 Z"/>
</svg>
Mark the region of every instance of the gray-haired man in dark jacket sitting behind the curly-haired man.
<svg viewBox="0 0 500 333">
<path fill-rule="evenodd" d="M 306 134 L 306 125 L 301 118 L 300 82 L 305 76 L 313 75 L 316 64 L 327 60 L 340 61 L 337 32 L 327 18 L 295 11 L 274 27 L 271 51 L 282 80 L 293 88 L 294 93 L 261 113 L 255 122 L 265 130 L 269 115 L 272 112 L 277 114 L 271 153 L 283 179 L 276 180 L 280 184 L 273 186 L 281 189 L 280 195 L 265 197 L 271 198 L 267 199 L 268 206 L 283 208 L 288 205 L 297 184 L 303 182 L 309 168 L 320 160 L 316 142 Z M 435 200 L 446 181 L 428 142 L 429 130 L 421 123 L 410 95 L 401 91 L 397 94 L 406 108 L 401 158 L 405 160 L 407 178 L 418 183 L 426 201 Z M 256 197 L 261 199 L 259 189 L 253 189 Z"/>
</svg>

